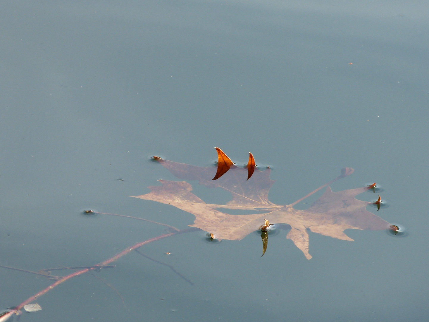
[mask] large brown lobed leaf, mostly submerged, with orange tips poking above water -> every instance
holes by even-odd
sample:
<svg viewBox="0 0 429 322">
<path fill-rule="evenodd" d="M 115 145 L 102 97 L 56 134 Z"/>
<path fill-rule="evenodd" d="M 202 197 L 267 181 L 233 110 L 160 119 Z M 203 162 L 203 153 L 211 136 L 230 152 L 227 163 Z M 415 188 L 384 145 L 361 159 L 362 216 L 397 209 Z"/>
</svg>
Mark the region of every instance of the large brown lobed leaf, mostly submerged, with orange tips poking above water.
<svg viewBox="0 0 429 322">
<path fill-rule="evenodd" d="M 269 167 L 265 171 L 255 168 L 253 155 L 250 154 L 249 164 L 240 168 L 233 164 L 225 153 L 218 151 L 218 168 L 196 167 L 189 164 L 172 162 L 154 157 L 173 175 L 179 179 L 198 180 L 200 185 L 208 188 L 221 187 L 230 191 L 233 200 L 226 205 L 206 204 L 192 192 L 192 186 L 184 181 L 159 180 L 161 186 L 150 186 L 151 192 L 140 196 L 133 196 L 146 200 L 154 200 L 163 204 L 170 204 L 181 210 L 195 215 L 191 227 L 207 231 L 217 239 L 241 240 L 252 231 L 263 229 L 270 223 L 283 223 L 290 225 L 287 238 L 302 250 L 307 259 L 308 232 L 342 239 L 353 240 L 344 234 L 346 229 L 366 230 L 396 230 L 380 217 L 366 210 L 371 204 L 357 200 L 355 196 L 371 189 L 374 185 L 363 188 L 332 192 L 328 186 L 325 193 L 317 199 L 307 210 L 296 210 L 295 204 L 305 197 L 313 194 L 320 188 L 353 173 L 352 168 L 344 168 L 341 175 L 316 189 L 307 196 L 289 205 L 277 205 L 268 200 L 268 191 L 274 180 L 269 179 Z M 212 179 L 213 178 L 213 179 Z M 257 210 L 261 213 L 248 215 L 230 215 L 227 209 Z M 221 211 L 222 210 L 222 211 Z M 266 234 L 263 234 L 264 252 L 266 249 Z"/>
</svg>

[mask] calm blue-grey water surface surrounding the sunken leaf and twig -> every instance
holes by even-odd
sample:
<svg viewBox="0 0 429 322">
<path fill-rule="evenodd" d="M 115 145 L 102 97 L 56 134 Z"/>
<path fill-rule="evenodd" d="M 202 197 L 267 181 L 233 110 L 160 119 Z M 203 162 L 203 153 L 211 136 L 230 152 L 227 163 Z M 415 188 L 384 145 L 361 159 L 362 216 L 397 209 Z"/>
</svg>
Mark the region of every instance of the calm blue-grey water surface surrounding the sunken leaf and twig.
<svg viewBox="0 0 429 322">
<path fill-rule="evenodd" d="M 353 167 L 332 190 L 381 184 L 389 207 L 377 215 L 408 233 L 310 233 L 311 260 L 287 231 L 263 257 L 257 233 L 221 243 L 182 234 L 140 250 L 193 285 L 132 252 L 95 273 L 110 287 L 70 279 L 21 321 L 427 321 L 428 10 L 396 0 L 3 1 L 1 265 L 94 265 L 165 233 L 88 208 L 186 228 L 193 215 L 128 196 L 177 180 L 151 156 L 210 166 L 214 146 L 271 166 L 276 204 Z M 192 183 L 203 200 L 229 198 Z M 1 309 L 52 283 L 0 272 Z"/>
</svg>

